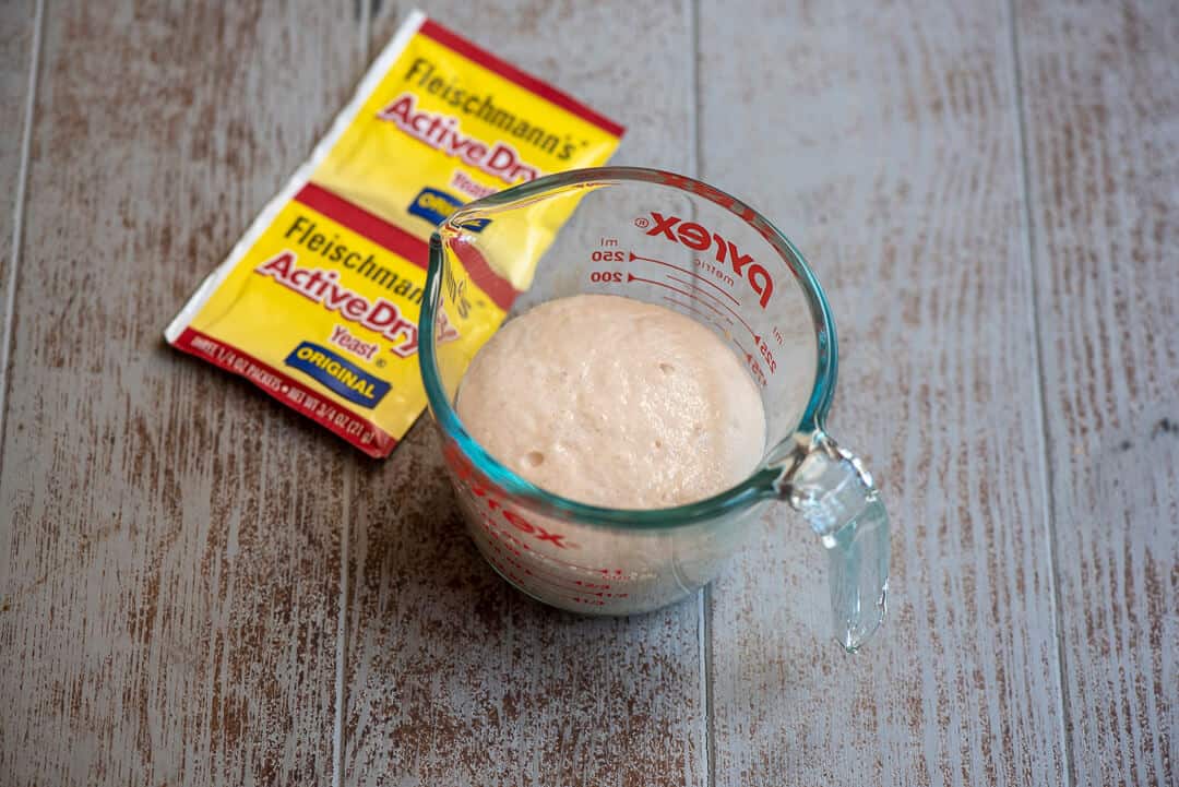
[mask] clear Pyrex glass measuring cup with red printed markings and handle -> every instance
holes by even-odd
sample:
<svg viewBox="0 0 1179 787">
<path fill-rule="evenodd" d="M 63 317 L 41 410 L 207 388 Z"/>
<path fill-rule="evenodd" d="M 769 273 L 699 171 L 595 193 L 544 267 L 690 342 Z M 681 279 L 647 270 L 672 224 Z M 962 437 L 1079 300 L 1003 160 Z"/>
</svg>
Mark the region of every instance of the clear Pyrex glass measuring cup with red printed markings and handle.
<svg viewBox="0 0 1179 787">
<path fill-rule="evenodd" d="M 552 227 L 571 216 L 554 239 Z M 586 505 L 529 483 L 475 442 L 454 409 L 488 335 L 474 318 L 489 307 L 480 292 L 513 304 L 512 313 L 582 292 L 619 295 L 707 325 L 759 388 L 768 424 L 760 464 L 707 500 L 657 510 Z M 419 336 L 468 530 L 520 590 L 580 613 L 656 609 L 710 582 L 766 507 L 784 501 L 829 555 L 839 643 L 856 650 L 883 621 L 888 515 L 871 476 L 824 430 L 835 323 L 798 250 L 744 203 L 634 167 L 548 176 L 480 199 L 430 238 Z"/>
</svg>

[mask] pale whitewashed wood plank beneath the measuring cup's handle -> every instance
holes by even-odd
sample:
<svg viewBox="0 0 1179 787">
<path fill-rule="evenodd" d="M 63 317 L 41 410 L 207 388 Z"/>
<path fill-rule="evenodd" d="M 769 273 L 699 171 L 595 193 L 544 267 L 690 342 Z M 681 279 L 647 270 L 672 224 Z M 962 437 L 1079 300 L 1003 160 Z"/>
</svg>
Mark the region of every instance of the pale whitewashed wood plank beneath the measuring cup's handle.
<svg viewBox="0 0 1179 787">
<path fill-rule="evenodd" d="M 791 512 L 716 586 L 716 783 L 1059 785 L 1003 6 L 704 2 L 700 31 L 703 177 L 764 209 L 828 287 L 831 430 L 895 522 L 890 619 L 856 656 L 831 642 L 823 556 Z"/>
</svg>

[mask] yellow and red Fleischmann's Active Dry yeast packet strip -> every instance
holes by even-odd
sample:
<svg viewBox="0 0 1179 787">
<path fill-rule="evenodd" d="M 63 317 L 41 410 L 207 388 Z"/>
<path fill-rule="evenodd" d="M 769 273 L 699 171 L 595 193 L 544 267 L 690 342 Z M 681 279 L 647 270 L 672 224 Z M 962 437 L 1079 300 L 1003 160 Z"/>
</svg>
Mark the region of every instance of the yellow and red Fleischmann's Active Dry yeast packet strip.
<svg viewBox="0 0 1179 787">
<path fill-rule="evenodd" d="M 623 127 L 413 12 L 283 190 L 165 331 L 371 456 L 426 406 L 428 239 L 456 207 L 605 164 Z M 549 212 L 548 242 L 565 213 Z M 469 229 L 469 227 L 468 227 Z M 490 335 L 547 242 L 470 270 Z"/>
</svg>

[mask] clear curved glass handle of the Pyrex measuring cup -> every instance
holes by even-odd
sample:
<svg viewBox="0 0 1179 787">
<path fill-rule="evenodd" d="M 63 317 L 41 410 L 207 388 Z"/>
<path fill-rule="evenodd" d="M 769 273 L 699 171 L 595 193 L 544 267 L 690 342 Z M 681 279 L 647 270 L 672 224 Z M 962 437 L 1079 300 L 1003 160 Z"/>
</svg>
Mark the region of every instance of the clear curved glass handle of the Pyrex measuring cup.
<svg viewBox="0 0 1179 787">
<path fill-rule="evenodd" d="M 887 610 L 888 512 L 871 474 L 816 431 L 796 449 L 776 485 L 826 548 L 835 636 L 855 653 L 880 628 Z"/>
</svg>

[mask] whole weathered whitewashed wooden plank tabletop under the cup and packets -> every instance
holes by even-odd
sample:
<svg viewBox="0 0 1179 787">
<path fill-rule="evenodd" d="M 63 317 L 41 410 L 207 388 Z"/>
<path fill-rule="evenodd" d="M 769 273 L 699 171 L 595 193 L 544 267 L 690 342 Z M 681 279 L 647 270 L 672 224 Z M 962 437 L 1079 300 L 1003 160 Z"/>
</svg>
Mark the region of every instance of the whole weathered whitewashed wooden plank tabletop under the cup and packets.
<svg viewBox="0 0 1179 787">
<path fill-rule="evenodd" d="M 1173 0 L 474 5 L 814 263 L 882 636 L 785 511 L 693 601 L 541 608 L 427 424 L 376 463 L 163 345 L 408 7 L 6 0 L 0 783 L 1174 785 Z"/>
</svg>

